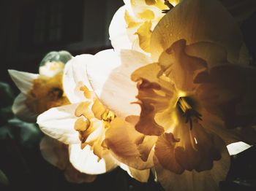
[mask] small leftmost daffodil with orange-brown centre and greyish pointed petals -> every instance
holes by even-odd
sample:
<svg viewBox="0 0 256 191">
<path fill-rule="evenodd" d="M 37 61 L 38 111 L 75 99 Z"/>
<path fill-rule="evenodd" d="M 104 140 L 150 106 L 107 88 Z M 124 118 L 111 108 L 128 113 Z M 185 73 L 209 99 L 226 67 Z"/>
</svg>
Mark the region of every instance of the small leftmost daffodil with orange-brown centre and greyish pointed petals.
<svg viewBox="0 0 256 191">
<path fill-rule="evenodd" d="M 35 122 L 37 116 L 53 106 L 69 104 L 62 87 L 64 65 L 72 55 L 66 51 L 50 52 L 39 66 L 39 74 L 9 70 L 20 94 L 12 112 L 21 120 Z"/>
</svg>

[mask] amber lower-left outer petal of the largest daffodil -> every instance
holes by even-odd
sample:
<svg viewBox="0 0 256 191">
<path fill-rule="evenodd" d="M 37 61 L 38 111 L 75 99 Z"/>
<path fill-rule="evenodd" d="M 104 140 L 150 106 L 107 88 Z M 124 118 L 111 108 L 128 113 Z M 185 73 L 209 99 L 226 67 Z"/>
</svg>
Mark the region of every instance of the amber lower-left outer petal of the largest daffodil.
<svg viewBox="0 0 256 191">
<path fill-rule="evenodd" d="M 105 134 L 105 144 L 118 161 L 132 168 L 143 170 L 153 165 L 152 153 L 146 162 L 140 159 L 137 144 L 143 139 L 143 134 L 138 133 L 134 126 L 120 118 L 116 118 L 110 124 Z"/>
</svg>

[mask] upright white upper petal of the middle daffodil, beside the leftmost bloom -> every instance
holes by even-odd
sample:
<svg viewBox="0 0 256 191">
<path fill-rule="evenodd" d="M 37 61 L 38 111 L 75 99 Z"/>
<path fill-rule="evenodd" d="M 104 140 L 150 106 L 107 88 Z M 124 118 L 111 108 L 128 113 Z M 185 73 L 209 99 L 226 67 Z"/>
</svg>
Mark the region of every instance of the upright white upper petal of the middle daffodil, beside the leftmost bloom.
<svg viewBox="0 0 256 191">
<path fill-rule="evenodd" d="M 91 85 L 86 75 L 86 65 L 91 63 L 92 57 L 93 55 L 77 55 L 68 61 L 64 68 L 64 92 L 71 103 L 85 100 L 83 92 L 80 91 L 80 85 L 86 85 L 91 90 Z"/>
</svg>

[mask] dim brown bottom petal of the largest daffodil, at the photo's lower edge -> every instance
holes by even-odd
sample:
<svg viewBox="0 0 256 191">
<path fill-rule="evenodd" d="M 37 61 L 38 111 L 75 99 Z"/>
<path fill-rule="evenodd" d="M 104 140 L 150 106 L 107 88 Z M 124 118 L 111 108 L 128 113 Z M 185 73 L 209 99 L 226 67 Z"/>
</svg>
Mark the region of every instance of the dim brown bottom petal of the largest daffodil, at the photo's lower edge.
<svg viewBox="0 0 256 191">
<path fill-rule="evenodd" d="M 224 181 L 230 167 L 230 156 L 227 149 L 222 151 L 222 159 L 214 161 L 211 171 L 184 171 L 183 174 L 175 174 L 163 168 L 154 158 L 157 179 L 166 191 L 197 191 L 219 190 L 219 181 Z"/>
</svg>

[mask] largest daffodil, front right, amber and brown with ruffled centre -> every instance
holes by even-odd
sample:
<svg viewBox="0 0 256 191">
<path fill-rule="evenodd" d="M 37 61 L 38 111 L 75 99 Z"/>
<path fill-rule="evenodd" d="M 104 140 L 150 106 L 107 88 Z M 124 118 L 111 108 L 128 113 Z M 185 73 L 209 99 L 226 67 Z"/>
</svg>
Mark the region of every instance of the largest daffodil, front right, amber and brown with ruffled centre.
<svg viewBox="0 0 256 191">
<path fill-rule="evenodd" d="M 129 154 L 153 155 L 166 190 L 219 190 L 230 163 L 225 146 L 255 144 L 256 70 L 236 20 L 219 1 L 182 1 L 154 28 L 150 50 L 151 58 L 123 50 L 121 62 L 113 54 L 87 68 L 117 116 L 105 143 L 132 167 Z"/>
</svg>

